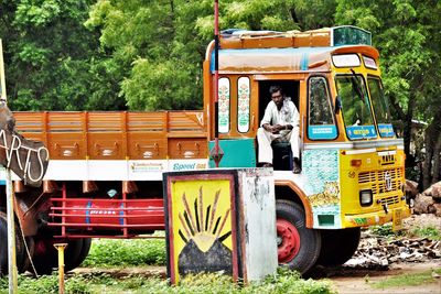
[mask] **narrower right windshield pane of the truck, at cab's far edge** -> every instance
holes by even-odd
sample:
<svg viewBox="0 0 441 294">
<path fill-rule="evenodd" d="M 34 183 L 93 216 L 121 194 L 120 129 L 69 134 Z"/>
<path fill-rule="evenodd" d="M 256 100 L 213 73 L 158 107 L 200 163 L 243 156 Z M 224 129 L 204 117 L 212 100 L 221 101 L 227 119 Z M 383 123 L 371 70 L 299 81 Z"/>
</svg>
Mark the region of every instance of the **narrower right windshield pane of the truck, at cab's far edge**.
<svg viewBox="0 0 441 294">
<path fill-rule="evenodd" d="M 377 119 L 378 132 L 381 137 L 394 137 L 394 128 L 390 120 L 388 100 L 383 91 L 383 84 L 378 77 L 368 77 L 367 86 Z"/>
</svg>

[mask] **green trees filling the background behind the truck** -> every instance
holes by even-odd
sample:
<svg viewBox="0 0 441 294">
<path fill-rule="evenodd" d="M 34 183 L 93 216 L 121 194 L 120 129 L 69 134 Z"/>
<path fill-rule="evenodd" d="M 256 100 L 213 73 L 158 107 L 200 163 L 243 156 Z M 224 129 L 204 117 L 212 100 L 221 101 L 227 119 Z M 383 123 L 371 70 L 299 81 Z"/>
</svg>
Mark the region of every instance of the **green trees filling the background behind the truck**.
<svg viewBox="0 0 441 294">
<path fill-rule="evenodd" d="M 408 163 L 412 119 L 427 121 L 423 182 L 440 179 L 441 2 L 219 2 L 220 29 L 354 24 L 372 31 Z M 195 109 L 213 39 L 213 1 L 4 0 L 0 37 L 14 110 Z"/>
</svg>

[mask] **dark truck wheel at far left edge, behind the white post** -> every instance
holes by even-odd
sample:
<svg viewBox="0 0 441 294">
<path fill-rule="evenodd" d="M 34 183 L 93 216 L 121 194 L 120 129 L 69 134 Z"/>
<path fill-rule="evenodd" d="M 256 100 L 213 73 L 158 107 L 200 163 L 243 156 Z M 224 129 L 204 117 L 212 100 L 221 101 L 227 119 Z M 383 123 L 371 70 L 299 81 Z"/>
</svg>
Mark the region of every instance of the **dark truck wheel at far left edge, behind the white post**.
<svg viewBox="0 0 441 294">
<path fill-rule="evenodd" d="M 8 268 L 8 220 L 7 214 L 0 208 L 0 276 L 7 275 Z M 20 227 L 15 221 L 15 263 L 19 272 L 23 271 L 24 244 Z"/>
</svg>

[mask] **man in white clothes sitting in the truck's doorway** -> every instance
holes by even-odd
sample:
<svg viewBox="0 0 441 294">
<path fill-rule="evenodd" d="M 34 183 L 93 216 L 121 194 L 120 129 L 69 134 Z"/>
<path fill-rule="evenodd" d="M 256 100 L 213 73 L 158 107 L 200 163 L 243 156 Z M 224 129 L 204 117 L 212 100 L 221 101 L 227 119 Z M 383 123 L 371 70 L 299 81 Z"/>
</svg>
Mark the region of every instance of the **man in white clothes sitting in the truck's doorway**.
<svg viewBox="0 0 441 294">
<path fill-rule="evenodd" d="M 265 116 L 257 130 L 257 142 L 259 143 L 259 162 L 265 167 L 272 166 L 273 140 L 289 141 L 291 143 L 293 159 L 293 172 L 301 172 L 299 165 L 299 111 L 290 98 L 284 97 L 280 86 L 269 88 L 271 101 L 265 109 Z"/>
</svg>

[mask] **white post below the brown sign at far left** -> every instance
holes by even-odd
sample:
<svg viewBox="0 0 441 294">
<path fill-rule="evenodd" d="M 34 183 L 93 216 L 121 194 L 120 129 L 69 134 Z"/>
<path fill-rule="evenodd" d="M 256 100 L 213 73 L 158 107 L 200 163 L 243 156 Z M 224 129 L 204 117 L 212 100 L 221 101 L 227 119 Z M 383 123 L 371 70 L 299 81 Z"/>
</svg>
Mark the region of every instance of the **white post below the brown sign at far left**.
<svg viewBox="0 0 441 294">
<path fill-rule="evenodd" d="M 8 214 L 8 263 L 9 263 L 9 293 L 18 293 L 17 261 L 15 261 L 15 225 L 13 210 L 13 189 L 11 170 L 6 168 L 7 176 L 7 214 Z"/>
</svg>

